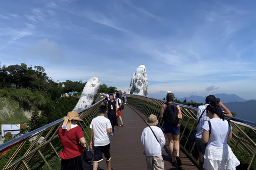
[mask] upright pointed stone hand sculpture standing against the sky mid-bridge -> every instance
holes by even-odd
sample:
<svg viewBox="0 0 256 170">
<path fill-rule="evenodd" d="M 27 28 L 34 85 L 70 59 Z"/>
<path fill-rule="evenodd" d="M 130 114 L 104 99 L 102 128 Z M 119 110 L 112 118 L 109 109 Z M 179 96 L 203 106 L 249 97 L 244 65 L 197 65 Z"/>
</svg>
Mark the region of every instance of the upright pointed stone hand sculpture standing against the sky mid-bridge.
<svg viewBox="0 0 256 170">
<path fill-rule="evenodd" d="M 140 65 L 133 73 L 127 94 L 148 96 L 148 77 L 145 65 Z"/>
</svg>

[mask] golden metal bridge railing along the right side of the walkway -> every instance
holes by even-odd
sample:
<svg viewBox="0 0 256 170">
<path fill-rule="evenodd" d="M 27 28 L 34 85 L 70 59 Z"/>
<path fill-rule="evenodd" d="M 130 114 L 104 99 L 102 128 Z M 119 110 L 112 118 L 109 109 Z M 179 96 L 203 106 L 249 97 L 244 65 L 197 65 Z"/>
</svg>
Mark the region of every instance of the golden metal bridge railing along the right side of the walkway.
<svg viewBox="0 0 256 170">
<path fill-rule="evenodd" d="M 130 95 L 127 94 L 127 103 L 137 108 L 143 114 L 149 116 L 150 114 L 155 114 L 158 118 L 158 126 L 163 129 L 163 120 L 159 118 L 161 107 L 163 104 L 166 103 L 164 100 L 149 98 L 140 95 Z M 174 103 L 180 106 L 182 112 L 182 120 L 180 120 L 181 124 L 181 132 L 180 132 L 180 147 L 181 149 L 186 152 L 186 154 L 190 157 L 191 160 L 197 165 L 199 165 L 199 156 L 197 153 L 197 148 L 195 146 L 195 142 L 191 142 L 188 140 L 188 136 L 193 131 L 196 125 L 196 115 L 197 115 L 197 108 L 187 105 L 182 105 L 178 103 Z M 228 144 L 232 147 L 233 152 L 236 149 L 241 149 L 247 154 L 250 154 L 251 160 L 250 164 L 247 167 L 247 170 L 251 169 L 254 164 L 256 158 L 256 144 L 255 142 L 243 131 L 241 126 L 246 128 L 250 128 L 256 132 L 256 123 L 250 122 L 246 120 L 242 120 L 241 118 L 236 117 L 229 117 L 225 116 L 226 120 L 229 120 L 233 126 L 233 135 L 231 141 L 228 141 Z M 237 134 L 234 132 L 234 129 L 239 133 L 242 134 L 242 137 L 238 137 Z M 197 155 L 197 156 L 195 156 Z"/>
</svg>

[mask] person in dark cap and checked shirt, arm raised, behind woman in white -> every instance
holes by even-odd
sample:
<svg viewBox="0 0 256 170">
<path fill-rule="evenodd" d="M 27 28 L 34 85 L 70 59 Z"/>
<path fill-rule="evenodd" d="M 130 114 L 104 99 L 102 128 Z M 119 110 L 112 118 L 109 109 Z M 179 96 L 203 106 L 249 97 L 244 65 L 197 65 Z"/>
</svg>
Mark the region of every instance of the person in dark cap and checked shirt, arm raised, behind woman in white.
<svg viewBox="0 0 256 170">
<path fill-rule="evenodd" d="M 198 150 L 198 154 L 199 154 L 199 167 L 200 170 L 203 170 L 203 165 L 204 165 L 204 154 L 205 154 L 205 147 L 207 145 L 207 143 L 203 143 L 201 138 L 202 138 L 202 134 L 203 134 L 203 125 L 205 123 L 205 121 L 209 121 L 210 118 L 206 116 L 206 107 L 211 104 L 212 102 L 217 103 L 220 107 L 222 107 L 224 109 L 225 112 L 223 112 L 223 114 L 225 116 L 232 116 L 231 112 L 229 111 L 229 109 L 220 101 L 219 98 L 216 98 L 214 95 L 209 95 L 206 97 L 205 99 L 205 105 L 202 106 L 198 106 L 197 108 L 197 116 L 196 116 L 196 122 L 198 122 L 199 118 L 199 122 L 197 124 L 197 128 L 196 128 L 196 147 Z"/>
</svg>

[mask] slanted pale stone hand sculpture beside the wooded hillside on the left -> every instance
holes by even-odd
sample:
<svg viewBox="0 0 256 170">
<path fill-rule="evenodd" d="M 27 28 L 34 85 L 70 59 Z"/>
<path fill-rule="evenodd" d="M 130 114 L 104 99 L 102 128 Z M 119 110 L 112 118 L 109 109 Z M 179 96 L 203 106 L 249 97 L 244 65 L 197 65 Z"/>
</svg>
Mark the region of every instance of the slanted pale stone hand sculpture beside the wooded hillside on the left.
<svg viewBox="0 0 256 170">
<path fill-rule="evenodd" d="M 100 79 L 91 78 L 84 86 L 82 95 L 78 100 L 73 112 L 78 112 L 92 105 L 95 96 L 100 89 Z"/>
</svg>

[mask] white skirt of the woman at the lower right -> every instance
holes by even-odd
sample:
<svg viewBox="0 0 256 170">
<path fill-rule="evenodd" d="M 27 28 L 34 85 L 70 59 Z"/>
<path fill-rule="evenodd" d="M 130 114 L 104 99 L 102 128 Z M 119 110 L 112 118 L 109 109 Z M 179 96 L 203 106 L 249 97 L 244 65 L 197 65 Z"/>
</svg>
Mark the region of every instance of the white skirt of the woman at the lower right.
<svg viewBox="0 0 256 170">
<path fill-rule="evenodd" d="M 231 148 L 206 147 L 204 154 L 204 165 L 206 170 L 235 170 L 240 164 Z"/>
</svg>

